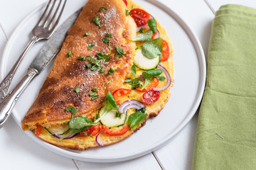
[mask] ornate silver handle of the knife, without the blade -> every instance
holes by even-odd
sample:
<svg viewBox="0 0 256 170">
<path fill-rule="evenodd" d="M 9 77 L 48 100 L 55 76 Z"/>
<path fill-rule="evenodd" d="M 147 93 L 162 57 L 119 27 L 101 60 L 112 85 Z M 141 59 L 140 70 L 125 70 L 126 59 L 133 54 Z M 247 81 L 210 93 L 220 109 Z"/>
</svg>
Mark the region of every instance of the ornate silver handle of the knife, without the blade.
<svg viewBox="0 0 256 170">
<path fill-rule="evenodd" d="M 26 76 L 23 77 L 23 79 L 21 79 L 16 88 L 13 91 L 11 91 L 11 93 L 9 93 L 0 103 L 0 128 L 2 128 L 6 120 L 11 115 L 11 111 L 14 108 L 19 96 L 21 96 L 23 90 L 37 75 L 38 71 L 36 69 L 29 67 Z"/>
</svg>

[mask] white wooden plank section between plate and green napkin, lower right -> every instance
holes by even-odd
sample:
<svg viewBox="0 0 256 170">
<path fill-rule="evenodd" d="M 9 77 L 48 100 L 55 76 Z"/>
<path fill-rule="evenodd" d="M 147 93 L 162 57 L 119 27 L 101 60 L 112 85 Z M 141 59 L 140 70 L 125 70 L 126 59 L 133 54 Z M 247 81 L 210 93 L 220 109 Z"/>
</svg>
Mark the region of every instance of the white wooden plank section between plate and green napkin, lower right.
<svg viewBox="0 0 256 170">
<path fill-rule="evenodd" d="M 161 167 L 172 170 L 191 169 L 197 119 L 196 114 L 167 145 L 154 152 Z"/>
</svg>

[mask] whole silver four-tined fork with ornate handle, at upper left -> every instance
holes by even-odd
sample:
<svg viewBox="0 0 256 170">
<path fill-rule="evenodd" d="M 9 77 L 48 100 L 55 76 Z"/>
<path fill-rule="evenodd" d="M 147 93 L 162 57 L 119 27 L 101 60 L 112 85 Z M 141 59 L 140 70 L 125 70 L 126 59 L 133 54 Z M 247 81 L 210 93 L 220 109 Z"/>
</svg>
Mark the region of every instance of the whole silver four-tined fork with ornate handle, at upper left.
<svg viewBox="0 0 256 170">
<path fill-rule="evenodd" d="M 53 3 L 51 3 L 52 1 L 53 1 Z M 60 9 L 60 13 L 58 14 L 58 18 L 55 20 L 55 17 L 57 16 L 57 13 L 58 13 L 58 10 L 60 8 L 62 1 L 63 0 L 59 0 L 59 2 L 57 3 L 57 7 L 55 8 L 55 11 L 53 13 L 53 8 L 56 4 L 56 0 L 49 0 L 45 11 L 43 12 L 38 23 L 36 23 L 36 26 L 32 30 L 33 36 L 31 38 L 31 40 L 26 45 L 25 50 L 23 50 L 20 57 L 18 57 L 18 61 L 11 68 L 11 70 L 6 75 L 4 80 L 1 81 L 0 103 L 1 103 L 1 101 L 3 101 L 4 97 L 7 95 L 8 91 L 9 91 L 9 87 L 11 85 L 11 81 L 14 78 L 14 74 L 17 72 L 18 67 L 21 64 L 24 57 L 26 56 L 28 50 L 31 49 L 31 47 L 33 46 L 33 44 L 35 42 L 38 42 L 39 40 L 43 40 L 43 39 L 49 39 L 50 36 L 53 35 L 53 32 L 54 32 L 56 26 L 58 25 L 58 22 L 60 21 L 60 16 L 63 13 L 63 9 L 65 7 L 65 3 L 67 0 L 64 0 L 62 8 Z M 48 9 L 49 9 L 49 11 L 48 11 Z M 53 13 L 52 16 L 50 15 L 51 13 Z"/>
</svg>

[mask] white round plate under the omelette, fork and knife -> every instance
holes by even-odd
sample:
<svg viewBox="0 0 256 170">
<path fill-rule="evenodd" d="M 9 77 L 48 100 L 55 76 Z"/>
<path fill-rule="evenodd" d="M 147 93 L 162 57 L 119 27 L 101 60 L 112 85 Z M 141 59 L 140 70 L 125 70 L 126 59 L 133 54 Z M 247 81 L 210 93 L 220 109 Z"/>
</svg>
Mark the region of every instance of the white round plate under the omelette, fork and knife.
<svg viewBox="0 0 256 170">
<path fill-rule="evenodd" d="M 68 16 L 84 6 L 86 1 L 68 1 L 60 24 Z M 135 2 L 144 6 L 161 23 L 161 26 L 169 33 L 174 47 L 175 81 L 171 89 L 171 98 L 165 108 L 156 118 L 149 119 L 146 125 L 131 137 L 106 147 L 97 147 L 85 151 L 65 149 L 50 145 L 33 135 L 32 132 L 26 131 L 26 134 L 32 140 L 55 153 L 73 159 L 87 162 L 121 162 L 148 154 L 165 145 L 171 137 L 174 137 L 191 120 L 201 102 L 206 81 L 206 61 L 201 44 L 193 31 L 170 8 L 154 0 L 135 0 Z M 1 79 L 9 72 L 14 61 L 17 60 L 26 43 L 30 40 L 29 33 L 33 26 L 36 25 L 43 10 L 43 5 L 36 8 L 11 35 L 3 57 L 1 57 Z M 28 52 L 14 77 L 11 89 L 26 74 L 28 66 L 45 42 L 37 42 Z M 24 115 L 26 115 L 28 108 L 35 100 L 52 66 L 53 64 L 50 64 L 48 68 L 36 77 L 18 99 L 12 115 L 20 127 Z"/>
</svg>

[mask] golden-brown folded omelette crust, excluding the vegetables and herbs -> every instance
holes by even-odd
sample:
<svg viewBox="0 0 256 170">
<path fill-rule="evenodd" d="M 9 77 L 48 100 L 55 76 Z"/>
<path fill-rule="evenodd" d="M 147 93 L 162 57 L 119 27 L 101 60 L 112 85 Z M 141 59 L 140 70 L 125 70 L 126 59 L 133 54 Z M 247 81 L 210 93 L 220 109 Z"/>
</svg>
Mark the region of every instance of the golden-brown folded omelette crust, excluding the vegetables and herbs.
<svg viewBox="0 0 256 170">
<path fill-rule="evenodd" d="M 130 16 L 125 15 L 125 9 L 128 8 L 130 11 L 132 6 L 133 8 L 142 8 L 142 6 L 139 6 L 130 0 L 127 0 L 127 2 L 127 7 L 124 5 L 122 0 L 89 0 L 87 2 L 75 25 L 68 31 L 68 37 L 63 43 L 63 48 L 60 50 L 60 53 L 56 57 L 53 70 L 51 70 L 46 79 L 46 82 L 43 84 L 43 87 L 38 94 L 38 98 L 36 98 L 35 103 L 33 103 L 33 106 L 31 106 L 31 109 L 28 111 L 26 117 L 23 120 L 22 125 L 24 130 L 26 130 L 26 128 L 35 130 L 37 124 L 50 127 L 67 123 L 70 119 L 70 113 L 65 113 L 65 108 L 69 106 L 70 103 L 72 103 L 74 106 L 82 105 L 76 115 L 87 115 L 89 113 L 95 115 L 98 113 L 99 108 L 102 106 L 102 101 L 104 100 L 107 91 L 113 92 L 119 88 L 131 89 L 131 85 L 125 84 L 124 79 L 131 77 L 130 67 L 132 66 L 132 57 L 134 56 L 136 45 L 133 42 L 130 42 L 129 39 L 136 36 L 137 26 Z M 105 6 L 109 10 L 103 10 L 102 12 L 99 12 L 98 9 L 101 6 Z M 107 44 L 102 43 L 102 38 L 105 37 L 105 35 L 102 36 L 101 32 L 102 29 L 106 29 L 105 26 L 102 24 L 103 27 L 99 29 L 97 26 L 95 26 L 95 23 L 91 22 L 92 18 L 96 15 L 99 16 L 99 21 L 104 21 L 101 19 L 103 19 L 105 16 L 101 16 L 99 13 L 107 15 L 107 13 L 110 12 L 110 8 L 115 8 L 117 13 L 119 13 L 119 16 L 112 20 L 114 22 L 107 24 L 108 27 L 109 24 L 115 27 L 115 30 L 111 30 L 113 32 L 107 32 L 112 33 L 114 38 L 114 40 L 109 38 L 111 40 L 112 49 L 115 50 L 115 46 L 119 45 L 119 47 L 122 47 L 124 54 L 127 56 L 118 60 L 114 60 L 114 56 L 112 56 L 110 63 L 107 64 L 107 69 L 105 69 L 105 72 L 108 71 L 109 67 L 113 67 L 115 68 L 114 74 L 109 76 L 106 76 L 105 74 L 97 74 L 97 76 L 100 76 L 100 78 L 96 79 L 96 81 L 93 81 L 92 75 L 90 75 L 92 72 L 90 72 L 90 70 L 82 69 L 85 61 L 78 61 L 77 58 L 80 55 L 95 56 L 95 53 L 99 52 L 99 50 L 103 53 L 110 52 Z M 111 16 L 111 18 L 112 17 L 113 16 Z M 120 26 L 121 28 L 118 26 L 119 23 L 122 25 Z M 121 29 L 121 31 L 119 29 Z M 160 37 L 168 42 L 170 48 L 169 60 L 166 62 L 161 62 L 160 64 L 163 65 L 168 70 L 171 77 L 173 77 L 174 67 L 172 60 L 173 49 L 171 46 L 171 40 L 169 39 L 166 30 L 164 30 L 164 28 L 162 28 L 158 22 L 157 29 L 159 30 Z M 93 40 L 97 42 L 97 47 L 92 47 L 92 51 L 89 51 L 87 50 L 87 47 L 82 46 L 84 43 L 90 43 L 92 40 L 92 38 L 89 38 L 90 36 L 88 38 L 83 37 L 83 35 L 87 33 L 88 30 L 90 30 L 91 35 L 95 36 Z M 140 42 L 137 42 L 137 45 L 141 45 Z M 67 53 L 69 50 L 71 50 L 73 54 L 67 60 Z M 71 66 L 68 67 L 67 65 Z M 74 68 L 76 69 L 74 70 Z M 137 68 L 137 77 L 139 77 L 140 74 L 142 74 L 142 70 Z M 109 81 L 110 79 L 112 80 L 110 85 L 105 84 L 105 82 Z M 91 80 L 91 83 L 86 83 L 84 88 L 85 91 L 83 91 L 82 94 L 79 92 L 78 94 L 80 95 L 77 96 L 78 94 L 73 92 L 75 88 L 83 84 L 83 82 L 88 82 Z M 174 79 L 172 79 L 172 84 L 173 81 Z M 164 84 L 166 84 L 166 81 L 159 81 L 159 86 L 157 87 L 164 86 Z M 91 101 L 87 95 L 87 92 L 90 91 L 92 87 L 96 87 L 98 91 L 100 89 L 100 96 L 95 101 Z M 146 120 L 149 119 L 149 117 L 156 117 L 156 115 L 159 114 L 161 109 L 164 108 L 165 104 L 169 100 L 170 89 L 171 86 L 168 89 L 160 92 L 161 98 L 159 98 L 159 101 L 156 101 L 152 104 L 146 104 L 146 113 L 148 113 L 148 116 L 142 123 L 137 125 L 137 127 L 133 128 L 132 130 L 128 130 L 128 132 L 126 132 L 124 135 L 118 136 L 110 136 L 102 132 L 101 140 L 104 145 L 111 145 L 124 140 L 139 130 L 139 128 L 141 128 L 143 125 L 145 125 Z M 129 98 L 128 96 L 122 96 L 119 99 L 122 102 L 129 99 L 137 99 L 142 101 L 142 94 L 142 92 L 134 90 L 131 94 L 129 94 Z M 86 107 L 88 105 L 89 107 Z M 41 108 L 46 109 L 42 110 Z M 131 113 L 134 113 L 134 110 L 128 111 L 128 115 Z M 38 135 L 38 137 L 53 145 L 57 145 L 59 147 L 68 147 L 70 149 L 84 150 L 88 147 L 98 147 L 97 143 L 95 142 L 95 137 L 73 137 L 71 139 L 59 140 L 57 137 L 50 135 L 45 129 L 41 130 L 41 134 Z"/>
</svg>

